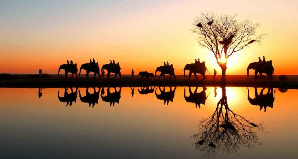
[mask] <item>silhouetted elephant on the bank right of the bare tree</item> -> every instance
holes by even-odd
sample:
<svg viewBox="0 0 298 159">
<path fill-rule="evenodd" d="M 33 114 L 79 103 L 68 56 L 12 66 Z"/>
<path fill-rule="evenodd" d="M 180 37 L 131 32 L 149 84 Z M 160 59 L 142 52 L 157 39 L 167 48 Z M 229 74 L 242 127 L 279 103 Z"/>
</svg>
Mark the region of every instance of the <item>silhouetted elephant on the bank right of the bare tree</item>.
<svg viewBox="0 0 298 159">
<path fill-rule="evenodd" d="M 247 67 L 247 79 L 249 77 L 249 70 L 254 70 L 254 80 L 257 80 L 257 74 L 259 73 L 261 77 L 263 77 L 263 73 L 267 75 L 267 77 L 273 80 L 274 68 L 272 66 L 272 61 L 266 61 L 266 64 L 259 64 L 258 62 L 252 62 Z"/>
</svg>

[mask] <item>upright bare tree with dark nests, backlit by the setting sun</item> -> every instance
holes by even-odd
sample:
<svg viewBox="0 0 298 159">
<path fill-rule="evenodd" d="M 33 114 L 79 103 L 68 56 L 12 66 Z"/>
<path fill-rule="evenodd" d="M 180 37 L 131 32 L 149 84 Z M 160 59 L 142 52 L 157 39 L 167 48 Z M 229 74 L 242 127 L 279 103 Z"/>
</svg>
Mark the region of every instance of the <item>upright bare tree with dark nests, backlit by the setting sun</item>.
<svg viewBox="0 0 298 159">
<path fill-rule="evenodd" d="M 216 15 L 213 12 L 201 13 L 194 19 L 195 27 L 191 29 L 198 34 L 198 43 L 202 47 L 211 50 L 221 67 L 221 80 L 226 79 L 226 62 L 235 52 L 242 50 L 254 42 L 260 44 L 263 35 L 256 36 L 259 23 L 252 23 L 250 19 L 238 21 L 234 16 Z"/>
</svg>

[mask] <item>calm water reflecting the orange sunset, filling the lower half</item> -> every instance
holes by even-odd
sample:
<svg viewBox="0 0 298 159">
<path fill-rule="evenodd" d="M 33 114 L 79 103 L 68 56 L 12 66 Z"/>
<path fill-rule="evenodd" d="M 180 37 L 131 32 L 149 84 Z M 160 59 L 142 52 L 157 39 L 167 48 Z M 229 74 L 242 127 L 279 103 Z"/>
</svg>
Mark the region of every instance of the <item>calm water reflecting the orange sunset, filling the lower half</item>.
<svg viewBox="0 0 298 159">
<path fill-rule="evenodd" d="M 0 158 L 298 157 L 298 90 L 67 89 L 0 88 Z"/>
</svg>

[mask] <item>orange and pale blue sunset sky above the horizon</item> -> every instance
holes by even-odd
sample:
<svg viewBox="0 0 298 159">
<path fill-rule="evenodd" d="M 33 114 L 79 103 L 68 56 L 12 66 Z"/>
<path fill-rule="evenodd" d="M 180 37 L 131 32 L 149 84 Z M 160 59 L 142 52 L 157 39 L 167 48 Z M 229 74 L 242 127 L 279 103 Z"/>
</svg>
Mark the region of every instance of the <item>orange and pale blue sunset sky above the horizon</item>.
<svg viewBox="0 0 298 159">
<path fill-rule="evenodd" d="M 262 45 L 228 59 L 227 75 L 246 75 L 248 64 L 262 56 L 272 60 L 275 75 L 297 75 L 297 8 L 297 0 L 0 1 L 0 73 L 41 68 L 56 74 L 66 60 L 80 67 L 94 58 L 100 69 L 114 59 L 122 74 L 154 72 L 169 61 L 181 75 L 185 64 L 200 58 L 220 75 L 214 55 L 190 31 L 194 18 L 213 11 L 250 18 L 262 24 L 258 34 L 267 34 Z"/>
</svg>

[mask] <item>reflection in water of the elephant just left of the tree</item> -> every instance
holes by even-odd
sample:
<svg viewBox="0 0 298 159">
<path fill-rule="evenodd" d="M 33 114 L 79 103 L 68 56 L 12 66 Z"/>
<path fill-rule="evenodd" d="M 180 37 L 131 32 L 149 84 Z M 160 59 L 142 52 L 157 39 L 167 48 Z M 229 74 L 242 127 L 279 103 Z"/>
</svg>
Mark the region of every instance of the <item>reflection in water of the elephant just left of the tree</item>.
<svg viewBox="0 0 298 159">
<path fill-rule="evenodd" d="M 200 105 L 201 104 L 206 104 L 206 99 L 208 98 L 208 96 L 206 96 L 206 87 L 203 87 L 203 91 L 202 92 L 199 92 L 197 93 L 197 90 L 198 90 L 198 87 L 195 88 L 195 91 L 192 92 L 190 87 L 188 87 L 188 90 L 189 90 L 189 96 L 185 96 L 185 89 L 184 88 L 184 99 L 185 101 L 187 102 L 190 102 L 190 103 L 195 103 L 195 107 L 199 106 L 199 108 L 201 107 Z"/>
</svg>

